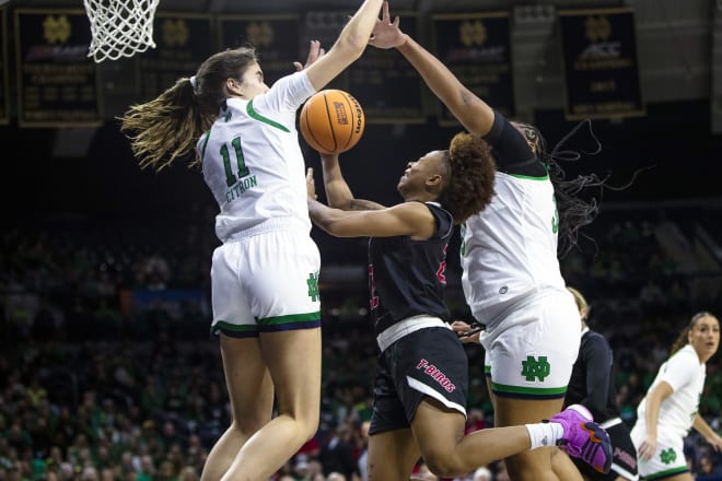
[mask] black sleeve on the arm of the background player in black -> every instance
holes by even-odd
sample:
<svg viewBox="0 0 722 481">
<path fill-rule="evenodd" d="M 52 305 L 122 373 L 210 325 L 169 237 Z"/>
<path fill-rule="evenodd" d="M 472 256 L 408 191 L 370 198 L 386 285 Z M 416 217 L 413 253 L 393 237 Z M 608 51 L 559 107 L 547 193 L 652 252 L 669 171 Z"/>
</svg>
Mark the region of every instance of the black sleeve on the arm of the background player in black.
<svg viewBox="0 0 722 481">
<path fill-rule="evenodd" d="M 586 366 L 586 397 L 582 404 L 593 413 L 603 413 L 609 398 L 612 349 L 601 335 L 591 333 L 582 355 Z"/>
</svg>

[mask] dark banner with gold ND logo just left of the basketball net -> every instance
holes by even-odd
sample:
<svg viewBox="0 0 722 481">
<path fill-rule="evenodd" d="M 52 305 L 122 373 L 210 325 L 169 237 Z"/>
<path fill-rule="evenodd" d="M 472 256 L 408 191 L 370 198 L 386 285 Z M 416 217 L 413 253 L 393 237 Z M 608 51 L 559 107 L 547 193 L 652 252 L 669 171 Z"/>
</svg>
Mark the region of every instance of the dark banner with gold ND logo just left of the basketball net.
<svg viewBox="0 0 722 481">
<path fill-rule="evenodd" d="M 103 104 L 84 10 L 18 9 L 20 127 L 97 127 Z M 4 30 L 3 30 L 4 31 Z"/>
</svg>

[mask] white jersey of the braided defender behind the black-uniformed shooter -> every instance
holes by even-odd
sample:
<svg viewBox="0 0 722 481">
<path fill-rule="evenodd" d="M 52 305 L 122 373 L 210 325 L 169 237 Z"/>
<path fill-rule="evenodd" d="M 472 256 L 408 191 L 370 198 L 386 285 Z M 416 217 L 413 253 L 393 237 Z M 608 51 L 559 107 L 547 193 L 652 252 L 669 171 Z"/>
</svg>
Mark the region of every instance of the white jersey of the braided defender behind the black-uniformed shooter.
<svg viewBox="0 0 722 481">
<path fill-rule="evenodd" d="M 549 177 L 497 172 L 494 189 L 491 203 L 462 226 L 462 285 L 474 317 L 487 325 L 524 294 L 566 286 Z"/>
</svg>

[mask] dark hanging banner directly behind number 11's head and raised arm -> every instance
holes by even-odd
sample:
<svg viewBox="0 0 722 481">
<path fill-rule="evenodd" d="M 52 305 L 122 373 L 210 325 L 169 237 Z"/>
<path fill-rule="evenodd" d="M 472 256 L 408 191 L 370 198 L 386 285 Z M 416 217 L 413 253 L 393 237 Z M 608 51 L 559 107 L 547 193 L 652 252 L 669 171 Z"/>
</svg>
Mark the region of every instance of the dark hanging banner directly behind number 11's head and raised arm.
<svg viewBox="0 0 722 481">
<path fill-rule="evenodd" d="M 295 14 L 221 15 L 218 17 L 221 48 L 249 45 L 256 49 L 267 85 L 295 72 L 294 61 L 304 63 L 308 44 L 299 42 L 300 19 Z M 304 51 L 300 51 L 303 47 Z"/>
</svg>

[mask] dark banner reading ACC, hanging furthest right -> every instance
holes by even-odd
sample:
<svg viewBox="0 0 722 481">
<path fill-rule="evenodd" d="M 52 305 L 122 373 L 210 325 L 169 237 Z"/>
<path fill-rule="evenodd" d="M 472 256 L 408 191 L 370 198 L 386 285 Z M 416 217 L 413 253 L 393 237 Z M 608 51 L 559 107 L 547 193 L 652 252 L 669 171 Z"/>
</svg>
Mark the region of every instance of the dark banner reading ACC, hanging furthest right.
<svg viewBox="0 0 722 481">
<path fill-rule="evenodd" d="M 567 119 L 643 116 L 632 11 L 560 10 L 558 14 Z"/>
</svg>

